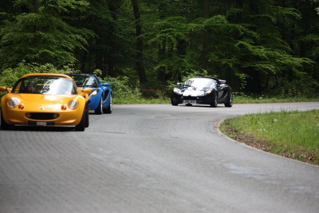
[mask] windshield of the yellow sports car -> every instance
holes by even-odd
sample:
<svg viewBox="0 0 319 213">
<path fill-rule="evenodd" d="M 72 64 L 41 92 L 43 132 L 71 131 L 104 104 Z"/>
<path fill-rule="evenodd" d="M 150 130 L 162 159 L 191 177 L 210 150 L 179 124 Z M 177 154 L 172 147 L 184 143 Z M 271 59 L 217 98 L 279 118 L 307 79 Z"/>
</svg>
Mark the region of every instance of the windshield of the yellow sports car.
<svg viewBox="0 0 319 213">
<path fill-rule="evenodd" d="M 55 76 L 30 76 L 20 79 L 12 93 L 75 95 L 77 89 L 72 80 Z"/>
</svg>

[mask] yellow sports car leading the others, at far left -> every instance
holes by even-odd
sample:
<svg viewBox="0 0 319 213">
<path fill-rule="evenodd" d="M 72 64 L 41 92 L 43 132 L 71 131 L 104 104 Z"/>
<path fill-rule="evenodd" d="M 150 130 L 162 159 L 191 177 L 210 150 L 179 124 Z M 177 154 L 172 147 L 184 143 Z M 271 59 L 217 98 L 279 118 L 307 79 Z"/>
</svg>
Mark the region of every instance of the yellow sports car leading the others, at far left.
<svg viewBox="0 0 319 213">
<path fill-rule="evenodd" d="M 87 94 L 91 89 L 77 89 L 70 76 L 27 74 L 13 88 L 0 87 L 0 92 L 5 91 L 1 129 L 13 125 L 75 126 L 77 131 L 84 131 L 89 126 Z"/>
</svg>

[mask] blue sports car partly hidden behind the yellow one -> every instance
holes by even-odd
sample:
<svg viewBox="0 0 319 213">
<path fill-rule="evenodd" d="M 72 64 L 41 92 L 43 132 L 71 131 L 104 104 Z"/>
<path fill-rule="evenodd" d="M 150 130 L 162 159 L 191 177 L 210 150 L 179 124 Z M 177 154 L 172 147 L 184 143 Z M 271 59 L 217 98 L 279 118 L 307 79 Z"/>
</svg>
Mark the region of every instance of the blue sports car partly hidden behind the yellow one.
<svg viewBox="0 0 319 213">
<path fill-rule="evenodd" d="M 112 89 L 110 83 L 101 83 L 94 74 L 68 73 L 77 87 L 91 88 L 89 95 L 89 110 L 94 110 L 95 114 L 112 113 Z"/>
</svg>

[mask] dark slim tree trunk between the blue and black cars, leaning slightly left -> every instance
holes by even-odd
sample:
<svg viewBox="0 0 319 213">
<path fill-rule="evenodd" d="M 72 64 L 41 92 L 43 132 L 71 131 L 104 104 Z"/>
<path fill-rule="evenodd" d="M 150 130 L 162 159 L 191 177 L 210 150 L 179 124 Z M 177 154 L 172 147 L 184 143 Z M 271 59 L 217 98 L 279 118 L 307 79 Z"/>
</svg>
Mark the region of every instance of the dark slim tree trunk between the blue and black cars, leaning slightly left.
<svg viewBox="0 0 319 213">
<path fill-rule="evenodd" d="M 138 0 L 131 0 L 133 11 L 134 11 L 134 19 L 135 19 L 135 27 L 136 27 L 136 68 L 138 72 L 138 76 L 141 83 L 147 82 L 145 68 L 143 65 L 143 41 L 141 38 L 142 35 L 142 27 L 140 24 L 140 15 L 138 8 Z"/>
</svg>

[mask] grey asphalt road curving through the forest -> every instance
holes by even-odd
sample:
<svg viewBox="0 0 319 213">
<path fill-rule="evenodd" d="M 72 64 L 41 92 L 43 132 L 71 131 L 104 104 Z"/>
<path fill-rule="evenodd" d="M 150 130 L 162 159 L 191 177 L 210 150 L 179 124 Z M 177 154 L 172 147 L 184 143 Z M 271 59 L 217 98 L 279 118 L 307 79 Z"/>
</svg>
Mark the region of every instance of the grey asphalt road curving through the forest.
<svg viewBox="0 0 319 213">
<path fill-rule="evenodd" d="M 231 141 L 226 117 L 319 102 L 114 105 L 84 132 L 0 131 L 0 212 L 319 212 L 319 167 Z"/>
</svg>

